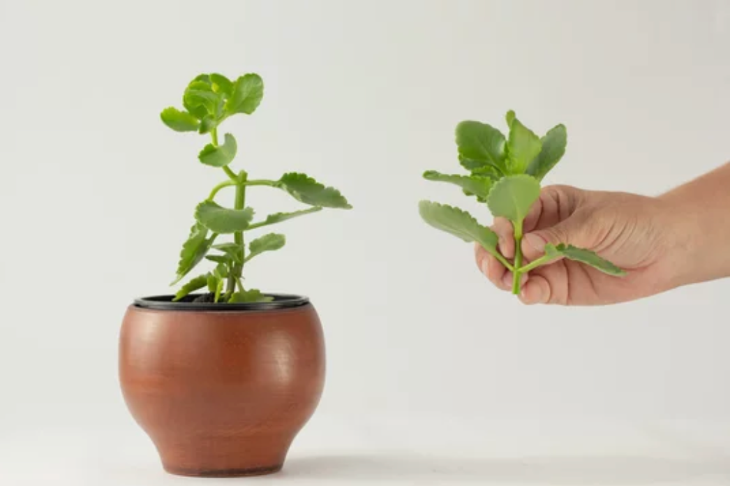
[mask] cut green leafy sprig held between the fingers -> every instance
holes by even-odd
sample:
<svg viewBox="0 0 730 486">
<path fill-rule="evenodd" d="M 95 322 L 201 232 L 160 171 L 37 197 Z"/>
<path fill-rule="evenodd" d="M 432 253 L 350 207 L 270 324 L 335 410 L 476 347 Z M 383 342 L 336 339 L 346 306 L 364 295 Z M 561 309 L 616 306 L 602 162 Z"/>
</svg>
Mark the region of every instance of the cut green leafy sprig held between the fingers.
<svg viewBox="0 0 730 486">
<path fill-rule="evenodd" d="M 512 272 L 515 295 L 520 291 L 523 274 L 561 257 L 583 262 L 609 275 L 622 276 L 621 268 L 593 251 L 576 248 L 568 242 L 546 245 L 544 256 L 523 265 L 520 248 L 523 221 L 539 198 L 540 181 L 565 153 L 567 132 L 564 125 L 557 125 L 540 138 L 515 117 L 514 111 L 507 112 L 505 118 L 510 130 L 507 137 L 478 121 L 462 121 L 456 126 L 458 159 L 470 175 L 445 175 L 429 170 L 423 177 L 456 184 L 464 194 L 485 203 L 493 216 L 510 220 L 515 232 L 515 258 L 512 261 L 504 258 L 497 248 L 497 235 L 464 210 L 421 201 L 420 216 L 432 227 L 483 246 Z"/>
</svg>

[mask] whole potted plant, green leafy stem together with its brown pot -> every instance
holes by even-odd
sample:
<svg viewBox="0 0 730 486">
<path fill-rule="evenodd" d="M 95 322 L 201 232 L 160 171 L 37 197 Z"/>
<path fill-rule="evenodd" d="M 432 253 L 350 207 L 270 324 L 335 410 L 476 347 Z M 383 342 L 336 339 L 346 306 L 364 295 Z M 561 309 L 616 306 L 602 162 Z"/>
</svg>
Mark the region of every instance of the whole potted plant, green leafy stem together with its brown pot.
<svg viewBox="0 0 730 486">
<path fill-rule="evenodd" d="M 236 80 L 200 75 L 185 88 L 183 110 L 169 107 L 161 113 L 164 124 L 177 132 L 210 137 L 198 159 L 225 175 L 195 209 L 173 284 L 204 260 L 211 269 L 189 278 L 175 295 L 135 300 L 120 333 L 124 399 L 172 474 L 246 476 L 280 470 L 323 389 L 323 335 L 312 303 L 245 284 L 245 267 L 282 248 L 284 235 L 247 237 L 323 208 L 351 206 L 337 189 L 301 173 L 274 181 L 231 168 L 237 142 L 229 133 L 219 137 L 218 129 L 231 116 L 252 114 L 263 95 L 264 83 L 255 74 Z M 247 206 L 248 189 L 254 186 L 286 191 L 308 208 L 255 219 Z M 233 208 L 216 202 L 225 189 L 235 191 Z"/>
</svg>

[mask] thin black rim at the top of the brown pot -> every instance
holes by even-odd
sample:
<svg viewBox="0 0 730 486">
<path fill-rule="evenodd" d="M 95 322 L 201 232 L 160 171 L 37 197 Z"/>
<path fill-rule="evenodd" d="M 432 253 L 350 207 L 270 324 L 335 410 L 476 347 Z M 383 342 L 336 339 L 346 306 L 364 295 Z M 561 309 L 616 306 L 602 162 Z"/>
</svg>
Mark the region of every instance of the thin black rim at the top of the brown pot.
<svg viewBox="0 0 730 486">
<path fill-rule="evenodd" d="M 292 294 L 265 294 L 274 297 L 271 302 L 245 302 L 245 303 L 212 303 L 212 302 L 191 302 L 190 300 L 200 294 L 188 295 L 188 300 L 173 302 L 174 295 L 150 295 L 134 299 L 134 307 L 150 309 L 153 311 L 277 311 L 301 307 L 310 303 L 310 298 L 304 295 Z"/>
</svg>

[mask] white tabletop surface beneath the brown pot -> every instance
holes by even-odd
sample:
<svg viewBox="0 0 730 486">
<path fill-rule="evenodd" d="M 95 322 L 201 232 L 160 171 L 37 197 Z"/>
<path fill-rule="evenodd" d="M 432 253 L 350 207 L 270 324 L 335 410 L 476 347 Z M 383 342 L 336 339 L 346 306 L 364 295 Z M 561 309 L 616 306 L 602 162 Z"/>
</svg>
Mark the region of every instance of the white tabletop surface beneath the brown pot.
<svg viewBox="0 0 730 486">
<path fill-rule="evenodd" d="M 315 419 L 280 474 L 190 479 L 162 471 L 134 430 L 9 436 L 0 484 L 727 485 L 730 424 Z"/>
</svg>

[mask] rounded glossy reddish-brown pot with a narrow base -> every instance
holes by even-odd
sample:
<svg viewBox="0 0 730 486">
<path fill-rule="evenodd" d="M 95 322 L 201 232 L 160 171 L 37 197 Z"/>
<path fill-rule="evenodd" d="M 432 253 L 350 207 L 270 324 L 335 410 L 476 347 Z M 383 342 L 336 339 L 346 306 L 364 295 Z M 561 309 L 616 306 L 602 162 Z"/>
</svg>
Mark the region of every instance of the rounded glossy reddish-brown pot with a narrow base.
<svg viewBox="0 0 730 486">
<path fill-rule="evenodd" d="M 124 316 L 119 375 L 163 466 L 185 476 L 279 471 L 322 394 L 325 354 L 304 297 L 272 303 L 140 299 Z"/>
</svg>

